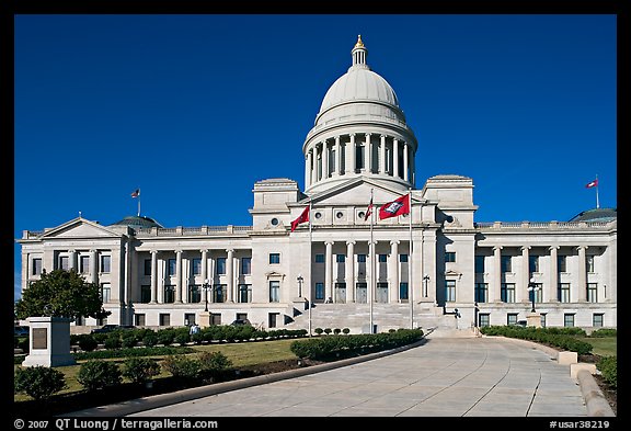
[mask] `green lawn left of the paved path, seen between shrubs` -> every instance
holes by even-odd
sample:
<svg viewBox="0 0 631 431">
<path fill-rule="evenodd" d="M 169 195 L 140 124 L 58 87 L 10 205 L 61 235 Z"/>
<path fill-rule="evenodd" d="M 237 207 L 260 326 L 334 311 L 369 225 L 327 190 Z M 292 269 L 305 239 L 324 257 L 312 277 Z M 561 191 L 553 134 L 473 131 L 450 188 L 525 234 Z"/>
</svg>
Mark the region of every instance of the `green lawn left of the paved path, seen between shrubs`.
<svg viewBox="0 0 631 431">
<path fill-rule="evenodd" d="M 296 341 L 296 339 L 286 340 L 274 340 L 274 341 L 257 341 L 257 342 L 236 342 L 236 343 L 225 343 L 225 344 L 204 344 L 204 345 L 191 345 L 198 352 L 215 352 L 220 351 L 230 361 L 232 361 L 232 366 L 241 367 L 254 364 L 263 364 L 268 362 L 285 361 L 290 359 L 298 359 L 294 353 L 291 353 L 290 344 Z M 190 355 L 196 355 L 197 353 L 188 353 Z M 164 356 L 149 356 L 160 360 Z M 124 358 L 107 359 L 103 361 L 114 361 L 119 364 L 125 362 Z M 78 361 L 77 365 L 59 366 L 57 370 L 62 372 L 66 376 L 66 384 L 68 387 L 61 390 L 59 394 L 68 394 L 72 392 L 82 390 L 83 386 L 77 382 L 77 375 L 79 374 L 79 368 L 81 363 L 85 361 Z M 15 365 L 18 367 L 20 365 Z M 162 371 L 160 375 L 153 378 L 169 377 L 170 374 Z M 13 396 L 14 401 L 25 401 L 31 399 L 30 396 L 23 394 L 16 394 Z"/>
</svg>

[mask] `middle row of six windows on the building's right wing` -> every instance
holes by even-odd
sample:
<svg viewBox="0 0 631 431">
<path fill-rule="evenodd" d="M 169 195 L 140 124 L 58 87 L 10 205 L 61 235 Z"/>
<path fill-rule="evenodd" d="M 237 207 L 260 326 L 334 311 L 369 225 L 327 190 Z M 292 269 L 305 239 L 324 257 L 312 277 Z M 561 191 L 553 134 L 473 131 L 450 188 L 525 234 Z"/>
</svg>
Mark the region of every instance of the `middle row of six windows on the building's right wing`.
<svg viewBox="0 0 631 431">
<path fill-rule="evenodd" d="M 446 300 L 456 300 L 456 281 L 447 280 L 447 298 Z M 528 290 L 528 300 L 532 300 L 532 295 L 535 295 L 535 302 L 541 303 L 543 299 L 543 288 L 541 283 L 534 283 L 532 290 Z M 587 283 L 587 302 L 597 303 L 598 302 L 598 283 Z M 559 283 L 557 288 L 557 300 L 560 303 L 571 303 L 570 297 L 571 285 L 570 283 Z M 515 303 L 515 283 L 502 283 L 501 286 L 501 299 L 503 303 Z M 487 283 L 475 283 L 475 302 L 486 303 L 489 302 L 489 284 Z"/>
</svg>

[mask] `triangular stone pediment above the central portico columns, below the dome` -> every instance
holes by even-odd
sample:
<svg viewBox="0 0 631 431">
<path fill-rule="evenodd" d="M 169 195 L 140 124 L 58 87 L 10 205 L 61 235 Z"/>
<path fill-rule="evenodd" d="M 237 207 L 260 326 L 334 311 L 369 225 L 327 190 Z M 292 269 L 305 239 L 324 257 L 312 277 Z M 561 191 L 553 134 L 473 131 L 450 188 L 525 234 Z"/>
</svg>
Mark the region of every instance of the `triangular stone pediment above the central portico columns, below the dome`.
<svg viewBox="0 0 631 431">
<path fill-rule="evenodd" d="M 370 195 L 372 195 L 374 205 L 379 206 L 401 197 L 406 193 L 408 192 L 404 190 L 398 190 L 377 180 L 358 177 L 305 197 L 298 203 L 298 205 L 302 206 L 309 204 L 309 201 L 311 201 L 314 207 L 340 205 L 368 206 L 370 203 Z M 414 191 L 412 193 L 412 200 L 413 202 L 420 201 L 414 197 Z"/>
</svg>

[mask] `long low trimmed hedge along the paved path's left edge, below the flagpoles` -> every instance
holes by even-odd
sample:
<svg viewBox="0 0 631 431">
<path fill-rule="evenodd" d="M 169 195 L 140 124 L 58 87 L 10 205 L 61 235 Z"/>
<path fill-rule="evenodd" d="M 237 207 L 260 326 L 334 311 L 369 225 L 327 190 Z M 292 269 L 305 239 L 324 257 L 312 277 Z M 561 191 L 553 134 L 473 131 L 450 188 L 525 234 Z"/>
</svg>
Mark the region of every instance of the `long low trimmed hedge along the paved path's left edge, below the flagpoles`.
<svg viewBox="0 0 631 431">
<path fill-rule="evenodd" d="M 298 358 L 326 361 L 409 345 L 422 338 L 421 329 L 399 329 L 388 333 L 336 334 L 298 340 L 291 343 L 290 349 Z"/>
</svg>

